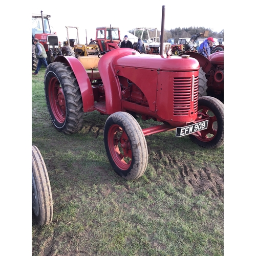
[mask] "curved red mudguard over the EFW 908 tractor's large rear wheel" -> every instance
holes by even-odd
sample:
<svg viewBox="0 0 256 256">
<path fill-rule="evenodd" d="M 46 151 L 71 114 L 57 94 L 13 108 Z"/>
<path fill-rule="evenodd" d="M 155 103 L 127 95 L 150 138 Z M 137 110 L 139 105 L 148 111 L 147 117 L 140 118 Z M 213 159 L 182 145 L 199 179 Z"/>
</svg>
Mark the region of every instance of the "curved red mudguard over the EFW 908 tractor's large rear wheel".
<svg viewBox="0 0 256 256">
<path fill-rule="evenodd" d="M 94 111 L 95 107 L 92 84 L 81 62 L 75 57 L 62 55 L 57 56 L 54 62 L 55 61 L 66 63 L 74 72 L 81 91 L 83 112 Z"/>
</svg>

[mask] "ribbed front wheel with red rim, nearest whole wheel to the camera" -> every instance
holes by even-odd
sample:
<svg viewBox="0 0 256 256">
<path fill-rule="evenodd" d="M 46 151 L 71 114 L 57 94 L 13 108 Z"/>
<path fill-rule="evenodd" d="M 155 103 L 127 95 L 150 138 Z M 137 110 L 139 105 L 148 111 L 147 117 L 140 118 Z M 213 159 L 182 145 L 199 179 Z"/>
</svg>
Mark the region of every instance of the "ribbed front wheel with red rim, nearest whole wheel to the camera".
<svg viewBox="0 0 256 256">
<path fill-rule="evenodd" d="M 148 160 L 146 140 L 132 115 L 116 112 L 106 119 L 104 144 L 118 175 L 126 180 L 134 180 L 144 174 Z"/>
</svg>

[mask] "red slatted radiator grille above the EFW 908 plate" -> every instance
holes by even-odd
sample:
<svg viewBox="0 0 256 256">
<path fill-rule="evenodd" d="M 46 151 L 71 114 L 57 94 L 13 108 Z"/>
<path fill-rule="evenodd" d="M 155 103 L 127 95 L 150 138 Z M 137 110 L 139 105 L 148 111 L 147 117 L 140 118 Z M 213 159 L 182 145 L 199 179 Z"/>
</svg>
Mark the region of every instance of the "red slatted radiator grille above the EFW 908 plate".
<svg viewBox="0 0 256 256">
<path fill-rule="evenodd" d="M 197 108 L 198 76 L 174 78 L 174 115 L 186 116 L 190 112 L 195 114 L 197 113 Z"/>
</svg>

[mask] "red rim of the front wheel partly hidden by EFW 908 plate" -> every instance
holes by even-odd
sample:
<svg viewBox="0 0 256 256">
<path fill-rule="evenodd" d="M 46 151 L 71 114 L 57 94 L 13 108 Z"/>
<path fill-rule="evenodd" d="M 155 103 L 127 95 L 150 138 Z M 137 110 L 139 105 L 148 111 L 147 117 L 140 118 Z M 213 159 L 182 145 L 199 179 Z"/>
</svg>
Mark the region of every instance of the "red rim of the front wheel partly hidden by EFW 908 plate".
<svg viewBox="0 0 256 256">
<path fill-rule="evenodd" d="M 217 117 L 215 114 L 206 106 L 199 106 L 198 108 L 200 111 L 198 114 L 202 115 L 202 119 L 208 119 L 208 127 L 207 129 L 203 131 L 199 131 L 194 133 L 198 140 L 201 140 L 203 142 L 209 142 L 215 138 L 218 131 L 218 123 L 217 123 Z"/>
</svg>

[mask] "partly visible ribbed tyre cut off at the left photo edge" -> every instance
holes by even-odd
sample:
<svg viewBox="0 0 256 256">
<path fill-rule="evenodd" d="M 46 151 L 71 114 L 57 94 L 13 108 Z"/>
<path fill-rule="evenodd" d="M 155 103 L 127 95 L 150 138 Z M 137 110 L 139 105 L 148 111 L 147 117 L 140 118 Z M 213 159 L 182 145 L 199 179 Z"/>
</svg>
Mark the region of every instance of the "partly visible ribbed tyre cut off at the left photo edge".
<svg viewBox="0 0 256 256">
<path fill-rule="evenodd" d="M 32 146 L 32 210 L 39 225 L 51 223 L 52 190 L 44 159 L 36 146 Z"/>
</svg>

